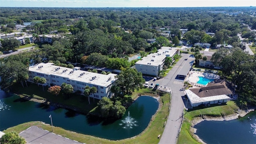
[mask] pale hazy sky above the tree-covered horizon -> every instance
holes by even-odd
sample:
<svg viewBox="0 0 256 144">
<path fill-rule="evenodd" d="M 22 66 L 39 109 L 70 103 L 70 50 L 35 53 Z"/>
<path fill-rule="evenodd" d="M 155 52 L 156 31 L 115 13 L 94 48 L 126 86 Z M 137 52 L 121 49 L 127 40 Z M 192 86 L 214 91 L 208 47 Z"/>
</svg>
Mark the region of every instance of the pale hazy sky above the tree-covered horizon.
<svg viewBox="0 0 256 144">
<path fill-rule="evenodd" d="M 220 7 L 256 6 L 256 0 L 0 0 L 0 7 Z"/>
</svg>

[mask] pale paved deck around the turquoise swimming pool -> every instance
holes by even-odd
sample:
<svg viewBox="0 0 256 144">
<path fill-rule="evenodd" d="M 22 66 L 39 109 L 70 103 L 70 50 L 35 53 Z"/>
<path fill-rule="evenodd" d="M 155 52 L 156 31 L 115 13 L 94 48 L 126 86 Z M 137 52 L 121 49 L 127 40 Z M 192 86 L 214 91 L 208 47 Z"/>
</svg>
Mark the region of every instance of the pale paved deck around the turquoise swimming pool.
<svg viewBox="0 0 256 144">
<path fill-rule="evenodd" d="M 204 84 L 198 84 L 198 76 L 202 76 L 204 78 L 208 78 L 208 79 L 219 79 L 220 76 L 216 75 L 216 74 L 212 74 L 212 73 L 208 73 L 208 72 L 197 72 L 197 71 L 191 71 L 188 75 L 188 78 L 186 78 L 186 81 L 188 81 L 190 84 L 194 85 L 194 86 L 198 86 L 198 87 L 203 87 L 206 86 Z"/>
</svg>

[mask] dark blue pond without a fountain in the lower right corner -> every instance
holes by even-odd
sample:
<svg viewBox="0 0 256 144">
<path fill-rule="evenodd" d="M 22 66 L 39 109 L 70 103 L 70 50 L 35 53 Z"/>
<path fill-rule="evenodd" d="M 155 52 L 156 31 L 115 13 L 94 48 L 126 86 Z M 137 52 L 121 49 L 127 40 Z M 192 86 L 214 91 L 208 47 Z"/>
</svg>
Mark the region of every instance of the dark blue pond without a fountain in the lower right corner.
<svg viewBox="0 0 256 144">
<path fill-rule="evenodd" d="M 203 121 L 194 126 L 207 144 L 256 144 L 256 112 L 228 121 Z"/>
</svg>

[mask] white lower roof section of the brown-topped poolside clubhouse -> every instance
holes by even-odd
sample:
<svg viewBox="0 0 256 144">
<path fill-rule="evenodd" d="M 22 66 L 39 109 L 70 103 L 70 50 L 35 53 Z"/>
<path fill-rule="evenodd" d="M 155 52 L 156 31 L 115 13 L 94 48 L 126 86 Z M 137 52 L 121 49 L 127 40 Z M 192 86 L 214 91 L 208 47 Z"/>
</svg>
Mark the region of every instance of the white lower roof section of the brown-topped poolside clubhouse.
<svg viewBox="0 0 256 144">
<path fill-rule="evenodd" d="M 214 101 L 214 100 L 224 100 L 224 99 L 230 98 L 225 94 L 200 98 L 199 96 L 197 96 L 194 92 L 192 92 L 189 89 L 185 90 L 185 92 L 186 92 L 191 104 L 196 104 L 196 103 L 201 103 L 201 102 L 210 102 L 210 101 Z"/>
</svg>

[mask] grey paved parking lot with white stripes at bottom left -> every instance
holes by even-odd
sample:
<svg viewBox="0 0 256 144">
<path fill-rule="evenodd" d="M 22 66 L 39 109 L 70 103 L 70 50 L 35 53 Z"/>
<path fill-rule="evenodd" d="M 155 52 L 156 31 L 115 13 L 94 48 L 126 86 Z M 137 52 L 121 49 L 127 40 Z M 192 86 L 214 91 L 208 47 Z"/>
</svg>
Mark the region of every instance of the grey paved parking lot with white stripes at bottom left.
<svg viewBox="0 0 256 144">
<path fill-rule="evenodd" d="M 25 138 L 28 144 L 83 144 L 36 126 L 27 128 L 23 132 L 20 132 L 19 135 Z"/>
</svg>

